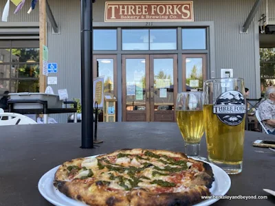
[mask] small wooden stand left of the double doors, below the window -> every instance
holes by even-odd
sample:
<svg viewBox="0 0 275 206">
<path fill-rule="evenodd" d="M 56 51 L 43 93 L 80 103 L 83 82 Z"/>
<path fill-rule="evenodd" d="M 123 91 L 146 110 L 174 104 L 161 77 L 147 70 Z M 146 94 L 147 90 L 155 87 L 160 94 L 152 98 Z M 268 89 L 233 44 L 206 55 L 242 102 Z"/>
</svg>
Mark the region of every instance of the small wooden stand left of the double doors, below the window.
<svg viewBox="0 0 275 206">
<path fill-rule="evenodd" d="M 115 122 L 116 98 L 111 95 L 104 96 L 103 121 Z"/>
</svg>

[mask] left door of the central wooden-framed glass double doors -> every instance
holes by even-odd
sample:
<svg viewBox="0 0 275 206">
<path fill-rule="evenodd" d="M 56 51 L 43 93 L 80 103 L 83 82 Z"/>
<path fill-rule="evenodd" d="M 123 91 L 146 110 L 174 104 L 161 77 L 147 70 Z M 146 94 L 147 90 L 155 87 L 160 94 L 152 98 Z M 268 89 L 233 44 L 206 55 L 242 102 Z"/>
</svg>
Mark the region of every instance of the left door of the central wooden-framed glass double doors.
<svg viewBox="0 0 275 206">
<path fill-rule="evenodd" d="M 149 56 L 122 56 L 122 121 L 149 122 Z"/>
</svg>

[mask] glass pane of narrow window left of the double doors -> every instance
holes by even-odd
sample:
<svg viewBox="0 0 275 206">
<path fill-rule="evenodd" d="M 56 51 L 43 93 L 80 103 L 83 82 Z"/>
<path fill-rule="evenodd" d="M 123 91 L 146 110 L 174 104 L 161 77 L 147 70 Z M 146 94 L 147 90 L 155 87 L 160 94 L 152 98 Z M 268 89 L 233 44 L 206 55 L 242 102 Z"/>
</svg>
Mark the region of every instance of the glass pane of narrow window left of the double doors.
<svg viewBox="0 0 275 206">
<path fill-rule="evenodd" d="M 113 59 L 97 59 L 98 76 L 104 76 L 104 95 L 113 95 Z"/>
</svg>

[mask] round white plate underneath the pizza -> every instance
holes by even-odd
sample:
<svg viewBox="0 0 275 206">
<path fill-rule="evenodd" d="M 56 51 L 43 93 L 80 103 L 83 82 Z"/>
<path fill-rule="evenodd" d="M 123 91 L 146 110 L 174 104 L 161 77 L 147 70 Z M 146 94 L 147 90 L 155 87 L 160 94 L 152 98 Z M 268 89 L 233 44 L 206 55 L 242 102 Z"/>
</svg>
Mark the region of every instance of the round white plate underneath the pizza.
<svg viewBox="0 0 275 206">
<path fill-rule="evenodd" d="M 92 156 L 97 157 L 98 155 Z M 198 159 L 199 160 L 199 159 Z M 201 161 L 201 160 L 199 160 Z M 224 170 L 219 168 L 216 165 L 213 165 L 212 163 L 208 163 L 212 167 L 212 171 L 214 173 L 214 182 L 212 183 L 212 187 L 210 189 L 211 194 L 213 195 L 225 195 L 226 192 L 230 189 L 231 181 L 230 177 Z M 39 180 L 39 192 L 41 195 L 50 203 L 56 205 L 56 206 L 85 206 L 86 204 L 81 203 L 79 201 L 75 201 L 72 198 L 68 198 L 65 196 L 65 194 L 59 192 L 59 190 L 56 189 L 53 185 L 54 181 L 54 174 L 56 173 L 56 170 L 60 165 L 58 165 L 55 168 L 52 168 L 52 170 L 46 172 L 41 179 Z M 206 206 L 211 205 L 215 202 L 219 201 L 219 199 L 211 199 L 207 201 L 203 201 L 201 203 L 198 203 L 194 206 Z"/>
</svg>

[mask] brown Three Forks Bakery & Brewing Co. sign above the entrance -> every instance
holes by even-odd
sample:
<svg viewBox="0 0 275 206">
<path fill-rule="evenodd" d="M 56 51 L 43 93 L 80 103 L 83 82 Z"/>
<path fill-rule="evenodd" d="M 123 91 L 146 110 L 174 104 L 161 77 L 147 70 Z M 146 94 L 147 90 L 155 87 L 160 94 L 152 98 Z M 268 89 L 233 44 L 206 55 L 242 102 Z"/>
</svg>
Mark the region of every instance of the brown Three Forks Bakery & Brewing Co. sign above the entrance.
<svg viewBox="0 0 275 206">
<path fill-rule="evenodd" d="M 193 2 L 106 1 L 104 21 L 194 21 Z"/>
</svg>

